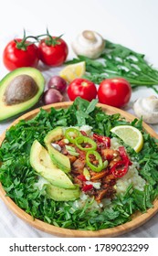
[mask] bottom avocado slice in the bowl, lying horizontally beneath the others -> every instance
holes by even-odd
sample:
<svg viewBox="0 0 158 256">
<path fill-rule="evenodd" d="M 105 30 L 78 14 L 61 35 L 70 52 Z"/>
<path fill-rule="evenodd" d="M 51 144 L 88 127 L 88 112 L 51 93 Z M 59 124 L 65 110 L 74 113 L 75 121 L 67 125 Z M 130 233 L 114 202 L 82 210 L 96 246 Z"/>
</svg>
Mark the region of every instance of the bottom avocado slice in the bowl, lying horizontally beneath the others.
<svg viewBox="0 0 158 256">
<path fill-rule="evenodd" d="M 48 197 L 55 201 L 74 201 L 79 198 L 80 190 L 78 186 L 74 189 L 67 189 L 47 184 L 46 193 Z"/>
</svg>

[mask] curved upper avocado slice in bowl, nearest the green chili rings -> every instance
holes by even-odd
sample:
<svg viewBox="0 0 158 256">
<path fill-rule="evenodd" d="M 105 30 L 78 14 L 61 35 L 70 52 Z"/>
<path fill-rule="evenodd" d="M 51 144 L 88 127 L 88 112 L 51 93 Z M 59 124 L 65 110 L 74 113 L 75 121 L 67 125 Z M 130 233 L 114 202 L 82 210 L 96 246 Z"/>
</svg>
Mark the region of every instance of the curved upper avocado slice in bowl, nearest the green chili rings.
<svg viewBox="0 0 158 256">
<path fill-rule="evenodd" d="M 54 165 L 57 165 L 58 168 L 63 170 L 65 173 L 68 173 L 70 171 L 70 162 L 68 156 L 61 154 L 52 146 L 52 143 L 62 139 L 63 135 L 62 127 L 57 127 L 47 133 L 46 137 L 44 138 L 44 142 L 47 146 L 48 154 L 50 155 Z"/>
</svg>

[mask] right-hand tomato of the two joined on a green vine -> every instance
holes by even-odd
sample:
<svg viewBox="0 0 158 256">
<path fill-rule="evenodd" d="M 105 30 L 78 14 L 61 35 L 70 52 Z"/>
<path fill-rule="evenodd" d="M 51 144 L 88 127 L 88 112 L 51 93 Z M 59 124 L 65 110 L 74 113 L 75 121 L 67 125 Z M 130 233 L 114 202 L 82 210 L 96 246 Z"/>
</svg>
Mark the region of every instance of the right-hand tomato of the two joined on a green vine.
<svg viewBox="0 0 158 256">
<path fill-rule="evenodd" d="M 68 56 L 68 45 L 60 37 L 47 37 L 38 45 L 39 59 L 46 65 L 57 67 L 64 63 Z"/>
</svg>

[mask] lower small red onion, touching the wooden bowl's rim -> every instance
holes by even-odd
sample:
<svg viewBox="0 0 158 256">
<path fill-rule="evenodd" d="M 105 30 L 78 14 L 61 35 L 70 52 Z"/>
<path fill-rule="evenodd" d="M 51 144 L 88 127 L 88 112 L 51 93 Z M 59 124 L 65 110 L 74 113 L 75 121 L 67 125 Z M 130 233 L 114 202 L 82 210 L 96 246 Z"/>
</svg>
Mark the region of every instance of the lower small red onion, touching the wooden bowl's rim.
<svg viewBox="0 0 158 256">
<path fill-rule="evenodd" d="M 43 102 L 45 105 L 61 102 L 62 100 L 63 100 L 63 96 L 56 89 L 50 88 L 44 92 Z"/>
</svg>

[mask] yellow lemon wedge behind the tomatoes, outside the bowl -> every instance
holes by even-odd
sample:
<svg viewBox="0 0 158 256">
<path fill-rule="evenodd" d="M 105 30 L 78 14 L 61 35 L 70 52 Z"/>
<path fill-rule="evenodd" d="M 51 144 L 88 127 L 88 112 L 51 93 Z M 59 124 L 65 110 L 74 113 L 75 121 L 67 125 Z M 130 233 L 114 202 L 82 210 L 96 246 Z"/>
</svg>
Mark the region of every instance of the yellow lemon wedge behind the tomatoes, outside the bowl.
<svg viewBox="0 0 158 256">
<path fill-rule="evenodd" d="M 79 63 L 70 64 L 59 72 L 59 76 L 68 82 L 81 78 L 86 71 L 85 61 Z"/>
</svg>

